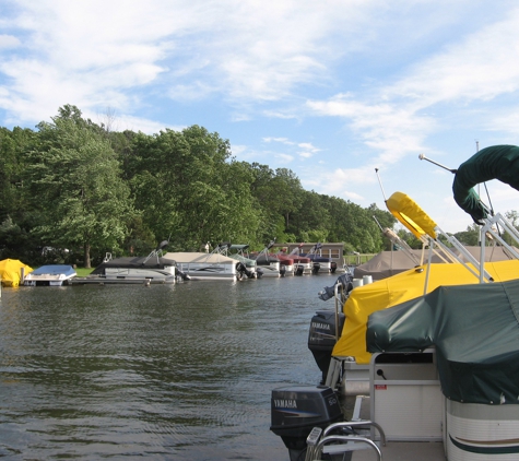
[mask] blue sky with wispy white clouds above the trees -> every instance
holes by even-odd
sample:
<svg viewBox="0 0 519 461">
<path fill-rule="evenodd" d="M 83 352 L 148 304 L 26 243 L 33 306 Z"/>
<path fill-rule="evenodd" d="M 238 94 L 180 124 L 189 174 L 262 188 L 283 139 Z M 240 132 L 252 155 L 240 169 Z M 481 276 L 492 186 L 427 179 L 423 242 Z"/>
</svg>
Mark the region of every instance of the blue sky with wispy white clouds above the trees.
<svg viewBox="0 0 519 461">
<path fill-rule="evenodd" d="M 519 144 L 518 24 L 515 0 L 2 0 L 0 126 L 66 104 L 116 131 L 199 125 L 306 190 L 382 210 L 404 192 L 456 233 L 453 175 L 418 155 Z"/>
</svg>

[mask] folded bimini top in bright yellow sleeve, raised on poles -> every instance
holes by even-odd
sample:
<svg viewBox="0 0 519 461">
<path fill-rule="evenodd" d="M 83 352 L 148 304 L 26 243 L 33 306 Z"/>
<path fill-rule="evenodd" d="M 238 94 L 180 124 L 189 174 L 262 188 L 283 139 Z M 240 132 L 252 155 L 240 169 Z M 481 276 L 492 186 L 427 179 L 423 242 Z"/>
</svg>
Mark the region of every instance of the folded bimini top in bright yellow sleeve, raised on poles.
<svg viewBox="0 0 519 461">
<path fill-rule="evenodd" d="M 386 206 L 417 239 L 425 235 L 436 239 L 437 224 L 405 193 L 394 192 L 386 200 Z"/>
</svg>

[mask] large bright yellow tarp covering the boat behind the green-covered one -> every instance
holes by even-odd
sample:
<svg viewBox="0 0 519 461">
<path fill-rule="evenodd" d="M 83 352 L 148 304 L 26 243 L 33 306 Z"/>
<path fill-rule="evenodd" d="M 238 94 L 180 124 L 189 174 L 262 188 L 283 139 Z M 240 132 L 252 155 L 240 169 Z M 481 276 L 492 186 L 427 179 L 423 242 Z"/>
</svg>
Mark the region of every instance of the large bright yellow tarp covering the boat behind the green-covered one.
<svg viewBox="0 0 519 461">
<path fill-rule="evenodd" d="M 370 314 L 423 296 L 427 267 L 402 272 L 369 285 L 354 288 L 344 303 L 346 317 L 342 335 L 333 347 L 333 356 L 352 356 L 357 364 L 368 364 L 371 354 L 366 352 L 366 326 Z M 519 277 L 519 261 L 485 263 L 485 270 L 496 282 Z M 476 284 L 480 280 L 462 264 L 430 264 L 427 293 L 440 285 Z"/>
</svg>

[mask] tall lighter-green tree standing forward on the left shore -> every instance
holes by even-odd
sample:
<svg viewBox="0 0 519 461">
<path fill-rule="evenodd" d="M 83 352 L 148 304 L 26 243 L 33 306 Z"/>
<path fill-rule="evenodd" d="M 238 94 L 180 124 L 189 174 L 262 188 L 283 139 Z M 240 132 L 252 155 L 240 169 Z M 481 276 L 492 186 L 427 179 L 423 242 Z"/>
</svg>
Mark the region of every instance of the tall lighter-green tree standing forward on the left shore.
<svg viewBox="0 0 519 461">
<path fill-rule="evenodd" d="M 75 106 L 60 108 L 51 120 L 38 125 L 40 142 L 30 153 L 33 204 L 45 213 L 34 230 L 54 247 L 81 246 L 90 268 L 93 249 L 119 249 L 127 236 L 130 190 L 101 127 Z"/>
</svg>

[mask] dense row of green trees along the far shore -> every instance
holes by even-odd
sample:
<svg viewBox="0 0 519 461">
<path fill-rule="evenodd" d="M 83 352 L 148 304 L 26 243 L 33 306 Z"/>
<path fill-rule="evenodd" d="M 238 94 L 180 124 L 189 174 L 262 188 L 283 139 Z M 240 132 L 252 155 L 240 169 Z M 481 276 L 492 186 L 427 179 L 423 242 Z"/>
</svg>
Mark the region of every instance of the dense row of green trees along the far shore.
<svg viewBox="0 0 519 461">
<path fill-rule="evenodd" d="M 373 253 L 391 245 L 379 225 L 396 223 L 376 204 L 303 189 L 290 169 L 238 162 L 228 140 L 202 127 L 118 132 L 72 105 L 35 130 L 0 128 L 0 259 L 31 264 L 90 268 L 108 251 L 145 256 L 163 240 L 169 251 L 208 241 L 260 250 L 275 239 Z"/>
</svg>

